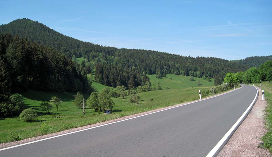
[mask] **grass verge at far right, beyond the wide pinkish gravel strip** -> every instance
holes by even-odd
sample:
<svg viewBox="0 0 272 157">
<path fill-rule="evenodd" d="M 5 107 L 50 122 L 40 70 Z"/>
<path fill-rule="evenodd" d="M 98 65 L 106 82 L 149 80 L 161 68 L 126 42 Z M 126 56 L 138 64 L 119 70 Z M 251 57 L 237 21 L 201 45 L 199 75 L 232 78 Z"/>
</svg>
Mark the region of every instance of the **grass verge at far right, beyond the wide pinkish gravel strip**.
<svg viewBox="0 0 272 157">
<path fill-rule="evenodd" d="M 264 147 L 268 148 L 272 153 L 272 82 L 261 83 L 261 88 L 264 90 L 264 97 L 267 101 L 266 107 L 266 129 L 268 132 L 262 137 Z"/>
</svg>

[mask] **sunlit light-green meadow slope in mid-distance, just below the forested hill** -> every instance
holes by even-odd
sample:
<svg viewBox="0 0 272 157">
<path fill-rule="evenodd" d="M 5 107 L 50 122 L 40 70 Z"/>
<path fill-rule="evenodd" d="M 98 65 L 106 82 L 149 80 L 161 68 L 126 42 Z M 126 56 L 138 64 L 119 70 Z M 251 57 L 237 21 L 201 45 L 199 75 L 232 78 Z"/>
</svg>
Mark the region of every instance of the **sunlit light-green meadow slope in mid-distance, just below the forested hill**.
<svg viewBox="0 0 272 157">
<path fill-rule="evenodd" d="M 202 78 L 194 78 L 194 81 L 190 81 L 190 77 L 188 76 L 180 76 L 167 74 L 167 77 L 162 77 L 161 79 L 157 79 L 156 75 L 149 75 L 150 82 L 152 87 L 161 86 L 163 90 L 165 89 L 181 89 L 181 88 L 192 88 L 192 87 L 206 87 L 206 86 L 214 86 L 214 79 L 211 79 L 210 82 L 204 80 Z M 170 79 L 172 78 L 172 79 Z M 200 81 L 200 84 L 198 82 Z"/>
</svg>

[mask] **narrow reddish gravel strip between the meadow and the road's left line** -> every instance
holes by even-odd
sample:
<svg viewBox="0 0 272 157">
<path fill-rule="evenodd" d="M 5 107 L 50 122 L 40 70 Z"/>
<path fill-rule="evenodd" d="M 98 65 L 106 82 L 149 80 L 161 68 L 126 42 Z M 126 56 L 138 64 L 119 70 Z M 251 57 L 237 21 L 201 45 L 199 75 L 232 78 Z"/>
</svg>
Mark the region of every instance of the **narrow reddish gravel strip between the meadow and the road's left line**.
<svg viewBox="0 0 272 157">
<path fill-rule="evenodd" d="M 240 88 L 242 88 L 242 87 L 240 87 Z M 239 88 L 237 88 L 235 90 L 238 90 L 238 89 Z M 227 91 L 225 93 L 229 93 L 229 92 L 232 92 L 232 91 L 234 91 L 234 90 Z M 219 95 L 222 95 L 222 94 L 225 94 L 225 93 L 209 96 L 209 97 L 203 98 L 202 100 L 212 98 L 212 97 L 216 97 L 216 96 L 219 96 Z M 125 120 L 125 119 L 128 119 L 128 118 L 137 117 L 137 116 L 140 116 L 140 115 L 145 115 L 145 114 L 149 114 L 149 113 L 152 113 L 152 112 L 157 112 L 157 111 L 160 111 L 160 110 L 165 110 L 165 109 L 172 108 L 172 107 L 175 107 L 175 106 L 180 106 L 180 105 L 184 105 L 184 104 L 187 104 L 187 103 L 193 103 L 193 102 L 197 102 L 197 101 L 199 101 L 199 100 L 186 102 L 186 103 L 182 103 L 182 104 L 177 104 L 177 105 L 173 105 L 173 106 L 168 106 L 168 107 L 164 107 L 164 108 L 160 108 L 160 109 L 156 109 L 156 110 L 152 110 L 152 111 L 148 111 L 148 112 L 142 112 L 142 113 L 135 114 L 135 115 L 125 116 L 125 117 L 117 118 L 115 120 L 109 120 L 109 121 L 105 121 L 105 122 L 101 122 L 101 123 L 96 123 L 96 124 L 91 124 L 91 125 L 87 125 L 87 126 L 83 126 L 83 127 L 73 128 L 73 129 L 69 129 L 69 130 L 65 130 L 65 131 L 61 131 L 61 132 L 56 132 L 56 133 L 53 133 L 53 134 L 47 134 L 47 135 L 43 135 L 43 136 L 32 137 L 32 138 L 28 138 L 28 139 L 23 139 L 21 141 L 13 141 L 13 142 L 9 142 L 9 143 L 3 143 L 3 144 L 0 144 L 0 149 L 10 147 L 10 146 L 19 145 L 19 144 L 24 144 L 24 143 L 31 142 L 31 141 L 45 139 L 45 138 L 52 137 L 52 136 L 66 134 L 66 133 L 69 133 L 69 132 L 75 132 L 75 131 L 82 130 L 82 129 L 96 127 L 96 126 L 103 125 L 103 124 L 117 122 L 117 121 L 120 121 L 120 120 Z"/>
</svg>

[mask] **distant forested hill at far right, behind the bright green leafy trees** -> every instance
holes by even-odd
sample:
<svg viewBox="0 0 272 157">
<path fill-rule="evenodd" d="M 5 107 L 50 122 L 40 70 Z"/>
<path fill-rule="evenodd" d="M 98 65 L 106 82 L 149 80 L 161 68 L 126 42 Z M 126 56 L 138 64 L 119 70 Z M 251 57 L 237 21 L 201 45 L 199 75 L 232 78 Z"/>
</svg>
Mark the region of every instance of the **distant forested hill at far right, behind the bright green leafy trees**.
<svg viewBox="0 0 272 157">
<path fill-rule="evenodd" d="M 250 66 L 250 67 L 259 67 L 261 64 L 263 64 L 269 60 L 270 61 L 272 60 L 272 55 L 247 57 L 245 59 L 233 60 L 233 62 L 237 62 L 242 65 Z"/>
</svg>

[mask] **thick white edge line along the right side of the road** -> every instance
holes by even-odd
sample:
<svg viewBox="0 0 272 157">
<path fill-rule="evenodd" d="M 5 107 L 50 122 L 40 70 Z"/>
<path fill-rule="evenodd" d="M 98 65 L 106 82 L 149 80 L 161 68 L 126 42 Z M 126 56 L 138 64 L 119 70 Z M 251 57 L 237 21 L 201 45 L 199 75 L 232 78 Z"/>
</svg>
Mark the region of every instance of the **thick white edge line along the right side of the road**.
<svg viewBox="0 0 272 157">
<path fill-rule="evenodd" d="M 255 87 L 255 86 L 254 86 Z M 256 88 L 256 87 L 255 87 Z M 214 146 L 214 148 L 206 155 L 206 157 L 213 157 L 215 153 L 220 149 L 220 147 L 223 145 L 223 143 L 228 139 L 231 133 L 233 133 L 234 129 L 240 124 L 240 122 L 243 120 L 243 118 L 247 115 L 248 111 L 251 109 L 253 104 L 255 103 L 256 98 L 258 97 L 258 89 L 256 88 L 257 93 L 252 101 L 252 103 L 247 107 L 247 110 L 242 114 L 242 116 L 233 124 L 233 126 L 229 129 L 229 131 L 222 137 L 222 139 Z"/>
</svg>

